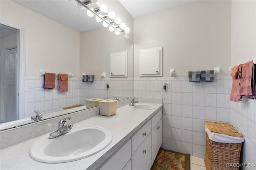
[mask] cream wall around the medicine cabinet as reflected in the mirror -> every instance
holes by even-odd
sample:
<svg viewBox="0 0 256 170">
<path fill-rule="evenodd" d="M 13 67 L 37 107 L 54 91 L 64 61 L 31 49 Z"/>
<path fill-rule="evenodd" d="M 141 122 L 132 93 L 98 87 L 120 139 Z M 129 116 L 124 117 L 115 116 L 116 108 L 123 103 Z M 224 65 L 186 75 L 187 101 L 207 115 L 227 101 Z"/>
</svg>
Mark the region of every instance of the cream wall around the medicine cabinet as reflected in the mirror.
<svg viewBox="0 0 256 170">
<path fill-rule="evenodd" d="M 128 51 L 128 77 L 132 77 L 132 42 L 106 28 L 80 32 L 80 74 L 101 74 L 110 77 L 110 53 Z"/>
</svg>

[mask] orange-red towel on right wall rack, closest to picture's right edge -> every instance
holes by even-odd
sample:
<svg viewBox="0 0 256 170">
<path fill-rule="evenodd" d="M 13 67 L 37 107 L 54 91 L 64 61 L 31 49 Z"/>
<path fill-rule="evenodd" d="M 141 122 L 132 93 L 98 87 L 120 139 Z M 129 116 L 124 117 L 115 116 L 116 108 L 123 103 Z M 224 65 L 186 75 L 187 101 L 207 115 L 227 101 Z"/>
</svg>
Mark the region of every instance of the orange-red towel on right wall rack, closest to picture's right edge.
<svg viewBox="0 0 256 170">
<path fill-rule="evenodd" d="M 253 68 L 253 61 L 249 61 L 244 63 L 242 69 L 242 79 L 241 79 L 241 86 L 239 90 L 240 96 L 251 96 L 252 95 L 252 68 Z"/>
</svg>

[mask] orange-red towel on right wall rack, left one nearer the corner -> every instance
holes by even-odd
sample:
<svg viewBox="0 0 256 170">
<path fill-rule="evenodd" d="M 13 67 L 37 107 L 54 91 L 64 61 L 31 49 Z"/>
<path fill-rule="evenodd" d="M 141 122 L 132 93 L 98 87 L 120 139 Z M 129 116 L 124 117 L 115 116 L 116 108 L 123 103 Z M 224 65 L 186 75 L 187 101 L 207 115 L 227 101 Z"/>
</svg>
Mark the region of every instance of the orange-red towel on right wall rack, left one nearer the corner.
<svg viewBox="0 0 256 170">
<path fill-rule="evenodd" d="M 241 96 L 239 95 L 239 89 L 240 89 L 240 83 L 241 83 L 242 67 L 243 67 L 243 64 L 234 66 L 230 74 L 232 76 L 232 88 L 230 93 L 230 101 L 238 102 L 241 99 Z"/>
</svg>

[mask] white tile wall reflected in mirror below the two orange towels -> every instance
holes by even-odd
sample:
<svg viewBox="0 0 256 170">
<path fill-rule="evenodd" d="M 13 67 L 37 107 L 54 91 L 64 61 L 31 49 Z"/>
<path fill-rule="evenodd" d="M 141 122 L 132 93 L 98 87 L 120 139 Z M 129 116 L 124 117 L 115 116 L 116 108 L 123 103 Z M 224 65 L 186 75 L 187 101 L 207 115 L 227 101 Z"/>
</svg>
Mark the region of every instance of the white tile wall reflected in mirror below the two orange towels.
<svg viewBox="0 0 256 170">
<path fill-rule="evenodd" d="M 25 118 L 34 115 L 35 110 L 42 114 L 60 111 L 63 107 L 79 104 L 78 79 L 69 79 L 68 92 L 58 91 L 58 81 L 52 90 L 43 89 L 43 77 L 26 77 L 25 79 Z M 40 82 L 41 88 L 30 88 L 30 82 Z"/>
</svg>

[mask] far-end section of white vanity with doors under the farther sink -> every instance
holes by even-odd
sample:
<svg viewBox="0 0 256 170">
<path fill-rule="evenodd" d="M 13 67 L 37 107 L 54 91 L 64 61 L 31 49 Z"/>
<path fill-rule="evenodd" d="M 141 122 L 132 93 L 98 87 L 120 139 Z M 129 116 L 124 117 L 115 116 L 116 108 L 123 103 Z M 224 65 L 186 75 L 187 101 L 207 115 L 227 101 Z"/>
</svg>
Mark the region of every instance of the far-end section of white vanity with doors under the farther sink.
<svg viewBox="0 0 256 170">
<path fill-rule="evenodd" d="M 151 119 L 152 122 L 152 162 L 156 159 L 159 148 L 162 145 L 162 109 Z"/>
</svg>

